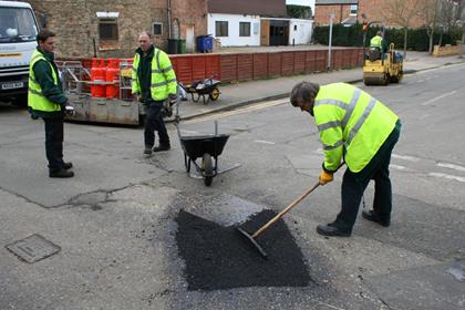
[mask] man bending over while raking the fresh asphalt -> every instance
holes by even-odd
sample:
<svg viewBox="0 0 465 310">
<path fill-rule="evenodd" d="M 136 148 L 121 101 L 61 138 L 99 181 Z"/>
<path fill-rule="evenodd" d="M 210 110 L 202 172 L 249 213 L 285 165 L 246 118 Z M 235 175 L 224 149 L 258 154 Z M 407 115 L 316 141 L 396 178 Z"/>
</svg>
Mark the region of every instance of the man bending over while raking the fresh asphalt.
<svg viewBox="0 0 465 310">
<path fill-rule="evenodd" d="M 373 209 L 362 216 L 384 227 L 391 224 L 391 153 L 399 140 L 399 116 L 366 92 L 345 83 L 319 85 L 301 82 L 291 92 L 291 104 L 314 116 L 323 145 L 324 162 L 319 180 L 324 185 L 342 162 L 341 211 L 333 223 L 319 225 L 323 236 L 349 237 L 360 202 L 374 179 Z"/>
</svg>

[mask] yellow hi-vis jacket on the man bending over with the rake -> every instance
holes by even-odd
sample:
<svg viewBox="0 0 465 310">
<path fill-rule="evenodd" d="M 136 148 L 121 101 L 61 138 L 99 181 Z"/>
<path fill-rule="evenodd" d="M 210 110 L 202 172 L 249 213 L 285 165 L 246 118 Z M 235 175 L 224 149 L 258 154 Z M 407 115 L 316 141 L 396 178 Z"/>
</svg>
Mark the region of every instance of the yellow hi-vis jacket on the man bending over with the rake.
<svg viewBox="0 0 465 310">
<path fill-rule="evenodd" d="M 342 157 L 351 172 L 362 170 L 399 120 L 380 101 L 345 83 L 321 86 L 313 115 L 323 145 L 324 168 L 331 172 Z"/>
</svg>

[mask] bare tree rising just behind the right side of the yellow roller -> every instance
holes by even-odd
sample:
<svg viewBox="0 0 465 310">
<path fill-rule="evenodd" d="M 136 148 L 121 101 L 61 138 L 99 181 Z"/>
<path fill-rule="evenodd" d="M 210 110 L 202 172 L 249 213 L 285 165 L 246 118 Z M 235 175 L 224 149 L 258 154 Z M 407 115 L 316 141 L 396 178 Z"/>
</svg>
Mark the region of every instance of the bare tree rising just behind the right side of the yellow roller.
<svg viewBox="0 0 465 310">
<path fill-rule="evenodd" d="M 422 3 L 422 0 L 389 0 L 384 4 L 384 18 L 404 29 L 404 59 L 406 58 L 409 28 L 412 19 L 418 16 Z"/>
</svg>

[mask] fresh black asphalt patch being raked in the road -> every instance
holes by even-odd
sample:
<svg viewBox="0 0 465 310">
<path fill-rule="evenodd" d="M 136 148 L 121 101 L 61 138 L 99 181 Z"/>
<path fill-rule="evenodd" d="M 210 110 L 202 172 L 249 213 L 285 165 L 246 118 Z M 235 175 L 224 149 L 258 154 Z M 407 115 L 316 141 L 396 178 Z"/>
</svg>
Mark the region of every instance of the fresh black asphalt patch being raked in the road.
<svg viewBox="0 0 465 310">
<path fill-rule="evenodd" d="M 262 210 L 241 228 L 252 232 L 275 215 L 272 210 Z M 185 210 L 180 210 L 175 220 L 188 290 L 307 287 L 313 282 L 300 248 L 281 219 L 257 238 L 268 259 L 264 259 L 235 226 L 225 227 Z"/>
</svg>

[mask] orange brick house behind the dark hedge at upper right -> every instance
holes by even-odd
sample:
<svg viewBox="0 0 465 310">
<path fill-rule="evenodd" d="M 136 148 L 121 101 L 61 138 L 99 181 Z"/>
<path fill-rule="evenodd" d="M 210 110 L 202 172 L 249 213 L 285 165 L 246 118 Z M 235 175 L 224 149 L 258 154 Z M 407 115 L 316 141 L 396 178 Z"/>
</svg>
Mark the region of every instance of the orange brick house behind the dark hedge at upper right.
<svg viewBox="0 0 465 310">
<path fill-rule="evenodd" d="M 316 0 L 314 2 L 314 24 L 329 24 L 329 16 L 334 14 L 334 23 L 355 24 L 363 21 L 383 22 L 386 27 L 399 27 L 390 22 L 383 8 L 391 0 Z M 410 1 L 410 0 L 405 0 Z M 411 27 L 423 25 L 420 17 L 412 19 Z"/>
</svg>

